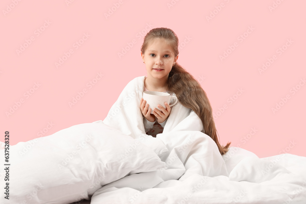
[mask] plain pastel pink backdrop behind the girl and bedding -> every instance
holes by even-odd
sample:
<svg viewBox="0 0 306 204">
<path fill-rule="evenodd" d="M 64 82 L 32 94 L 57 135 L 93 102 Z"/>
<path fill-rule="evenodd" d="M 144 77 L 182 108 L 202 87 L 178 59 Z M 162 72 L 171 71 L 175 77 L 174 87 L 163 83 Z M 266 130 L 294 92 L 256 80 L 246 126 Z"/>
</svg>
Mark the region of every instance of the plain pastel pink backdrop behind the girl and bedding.
<svg viewBox="0 0 306 204">
<path fill-rule="evenodd" d="M 126 84 L 147 74 L 140 55 L 144 35 L 166 27 L 179 38 L 178 63 L 207 93 L 221 143 L 232 141 L 260 158 L 282 150 L 306 156 L 305 1 L 66 2 L 1 1 L 0 141 L 5 131 L 14 145 L 104 120 Z M 230 54 L 221 60 L 226 50 Z M 103 76 L 94 80 L 97 73 Z M 96 83 L 90 87 L 91 81 Z M 87 92 L 70 107 L 83 89 Z M 24 95 L 27 91 L 31 95 Z M 273 113 L 276 103 L 282 106 Z"/>
</svg>

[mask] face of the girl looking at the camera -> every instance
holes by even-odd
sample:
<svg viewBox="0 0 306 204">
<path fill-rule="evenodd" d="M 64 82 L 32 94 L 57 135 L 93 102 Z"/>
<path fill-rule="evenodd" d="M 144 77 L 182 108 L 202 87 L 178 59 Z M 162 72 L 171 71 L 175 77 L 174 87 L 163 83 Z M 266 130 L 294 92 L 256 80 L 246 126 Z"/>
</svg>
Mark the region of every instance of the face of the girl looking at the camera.
<svg viewBox="0 0 306 204">
<path fill-rule="evenodd" d="M 156 79 L 168 78 L 172 66 L 177 61 L 178 56 L 174 56 L 174 51 L 167 44 L 165 39 L 155 39 L 147 47 L 145 53 L 141 53 L 146 65 L 147 74 Z M 161 69 L 161 70 L 156 70 Z"/>
</svg>

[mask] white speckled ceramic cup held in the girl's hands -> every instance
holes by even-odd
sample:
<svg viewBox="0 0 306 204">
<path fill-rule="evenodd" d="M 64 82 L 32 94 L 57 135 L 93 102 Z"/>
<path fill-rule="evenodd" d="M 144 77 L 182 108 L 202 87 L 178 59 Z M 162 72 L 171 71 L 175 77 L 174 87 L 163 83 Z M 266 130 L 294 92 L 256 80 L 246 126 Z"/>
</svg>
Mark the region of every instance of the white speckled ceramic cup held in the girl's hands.
<svg viewBox="0 0 306 204">
<path fill-rule="evenodd" d="M 173 98 L 175 101 L 172 102 L 172 104 L 169 104 Z M 177 103 L 176 96 L 171 96 L 168 93 L 159 91 L 144 91 L 143 99 L 146 101 L 146 104 L 149 104 L 148 110 L 151 108 L 151 114 L 153 114 L 154 108 L 161 111 L 161 109 L 157 107 L 158 104 L 166 109 L 165 102 L 167 102 L 170 107 Z"/>
</svg>

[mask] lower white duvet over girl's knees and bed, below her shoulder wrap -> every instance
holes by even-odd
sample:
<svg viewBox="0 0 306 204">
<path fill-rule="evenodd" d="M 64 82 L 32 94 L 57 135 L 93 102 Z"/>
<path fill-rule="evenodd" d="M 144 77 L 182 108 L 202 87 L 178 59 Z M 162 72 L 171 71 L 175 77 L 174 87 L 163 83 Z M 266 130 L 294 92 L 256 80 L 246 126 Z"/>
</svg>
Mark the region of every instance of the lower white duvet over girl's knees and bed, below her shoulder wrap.
<svg viewBox="0 0 306 204">
<path fill-rule="evenodd" d="M 237 147 L 221 157 L 215 142 L 197 131 L 162 133 L 157 139 L 169 150 L 161 157 L 168 169 L 107 184 L 93 194 L 91 204 L 306 203 L 305 157 L 258 158 Z"/>
</svg>

